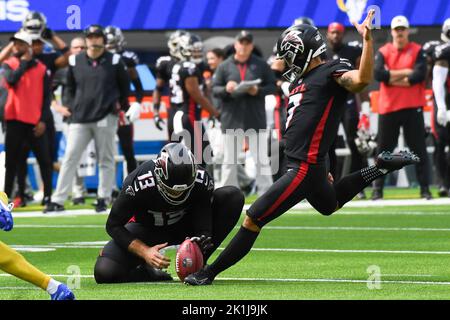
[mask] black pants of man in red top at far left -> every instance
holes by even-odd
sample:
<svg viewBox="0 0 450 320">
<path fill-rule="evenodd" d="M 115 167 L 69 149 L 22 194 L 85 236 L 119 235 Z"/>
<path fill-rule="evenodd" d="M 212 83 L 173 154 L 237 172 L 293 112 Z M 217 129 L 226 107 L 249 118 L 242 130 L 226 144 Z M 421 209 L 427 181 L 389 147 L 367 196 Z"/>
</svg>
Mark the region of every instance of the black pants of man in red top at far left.
<svg viewBox="0 0 450 320">
<path fill-rule="evenodd" d="M 6 174 L 5 192 L 12 196 L 14 178 L 17 176 L 19 197 L 25 195 L 25 178 L 28 153 L 31 149 L 39 164 L 42 182 L 44 184 L 44 197 L 50 198 L 52 194 L 52 160 L 48 148 L 48 137 L 44 134 L 34 136 L 34 125 L 20 121 L 6 121 L 5 152 Z M 20 174 L 19 174 L 20 172 Z"/>
</svg>

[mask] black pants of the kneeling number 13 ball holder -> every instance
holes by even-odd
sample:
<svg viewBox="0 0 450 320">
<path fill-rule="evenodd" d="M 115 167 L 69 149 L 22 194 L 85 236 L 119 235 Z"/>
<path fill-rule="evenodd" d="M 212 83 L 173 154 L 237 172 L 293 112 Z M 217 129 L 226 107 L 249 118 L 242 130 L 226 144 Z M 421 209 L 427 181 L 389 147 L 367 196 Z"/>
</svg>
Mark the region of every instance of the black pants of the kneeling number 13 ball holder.
<svg viewBox="0 0 450 320">
<path fill-rule="evenodd" d="M 227 186 L 214 190 L 212 199 L 212 242 L 214 247 L 204 255 L 204 263 L 231 232 L 239 220 L 244 206 L 244 196 L 236 187 Z M 168 242 L 168 245 L 181 244 L 186 237 L 194 236 L 195 221 L 190 221 L 187 213 L 184 218 L 171 226 L 155 228 L 140 223 L 128 223 L 126 228 L 136 238 L 148 246 Z M 174 263 L 174 261 L 172 262 Z M 97 283 L 145 282 L 145 275 L 137 276 L 136 268 L 145 261 L 111 240 L 103 248 L 94 268 Z"/>
</svg>

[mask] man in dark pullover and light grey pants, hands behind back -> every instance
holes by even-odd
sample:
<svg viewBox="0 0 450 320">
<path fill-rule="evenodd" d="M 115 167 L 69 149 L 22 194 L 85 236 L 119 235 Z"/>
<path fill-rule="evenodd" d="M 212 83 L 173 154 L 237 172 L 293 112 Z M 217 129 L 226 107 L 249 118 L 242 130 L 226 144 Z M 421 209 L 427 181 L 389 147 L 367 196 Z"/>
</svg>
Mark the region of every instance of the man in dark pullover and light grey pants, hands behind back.
<svg viewBox="0 0 450 320">
<path fill-rule="evenodd" d="M 91 139 L 99 165 L 97 212 L 106 210 L 114 184 L 114 139 L 118 113 L 129 108 L 130 80 L 120 55 L 105 50 L 103 28 L 91 25 L 84 34 L 86 52 L 69 57 L 67 90 L 72 99 L 67 147 L 56 191 L 44 212 L 64 210 L 81 154 Z"/>
</svg>

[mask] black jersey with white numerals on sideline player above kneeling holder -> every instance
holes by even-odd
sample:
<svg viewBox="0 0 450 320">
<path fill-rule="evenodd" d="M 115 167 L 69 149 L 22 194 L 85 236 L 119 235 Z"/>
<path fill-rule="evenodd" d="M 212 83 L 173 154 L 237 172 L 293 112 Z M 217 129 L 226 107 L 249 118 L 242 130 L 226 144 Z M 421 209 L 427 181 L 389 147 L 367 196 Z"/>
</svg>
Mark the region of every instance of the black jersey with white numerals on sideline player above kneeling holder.
<svg viewBox="0 0 450 320">
<path fill-rule="evenodd" d="M 189 77 L 196 77 L 203 91 L 203 74 L 200 67 L 190 61 L 180 61 L 172 67 L 170 78 L 170 102 L 186 112 L 192 120 L 201 119 L 201 108 L 189 95 L 185 81 Z"/>
</svg>

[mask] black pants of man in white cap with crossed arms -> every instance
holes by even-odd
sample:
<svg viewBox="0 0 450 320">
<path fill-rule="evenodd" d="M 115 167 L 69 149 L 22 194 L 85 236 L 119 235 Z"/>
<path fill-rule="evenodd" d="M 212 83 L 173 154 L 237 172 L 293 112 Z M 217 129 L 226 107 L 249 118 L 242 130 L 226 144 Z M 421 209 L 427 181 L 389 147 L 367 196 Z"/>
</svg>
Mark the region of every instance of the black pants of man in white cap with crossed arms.
<svg viewBox="0 0 450 320">
<path fill-rule="evenodd" d="M 378 154 L 382 151 L 392 152 L 395 149 L 400 134 L 400 127 L 403 128 L 406 145 L 420 158 L 420 163 L 415 166 L 419 185 L 421 188 L 428 188 L 430 173 L 425 144 L 425 124 L 421 107 L 379 115 L 377 152 Z M 384 177 L 375 180 L 375 190 L 383 190 L 383 186 Z"/>
</svg>

